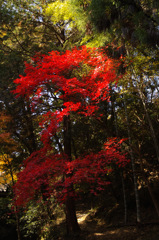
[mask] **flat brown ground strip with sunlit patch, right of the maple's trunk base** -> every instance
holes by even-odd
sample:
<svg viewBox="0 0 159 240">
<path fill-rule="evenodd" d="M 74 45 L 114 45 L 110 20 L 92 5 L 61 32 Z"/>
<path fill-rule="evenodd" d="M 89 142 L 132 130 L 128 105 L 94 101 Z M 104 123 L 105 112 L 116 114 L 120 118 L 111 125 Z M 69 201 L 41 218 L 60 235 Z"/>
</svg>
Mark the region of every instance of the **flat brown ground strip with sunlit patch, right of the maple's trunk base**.
<svg viewBox="0 0 159 240">
<path fill-rule="evenodd" d="M 93 216 L 91 211 L 78 212 L 77 216 L 82 230 L 80 240 L 159 240 L 159 223 L 113 226 Z"/>
</svg>

